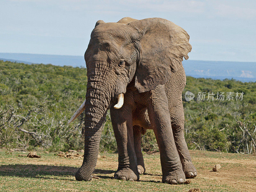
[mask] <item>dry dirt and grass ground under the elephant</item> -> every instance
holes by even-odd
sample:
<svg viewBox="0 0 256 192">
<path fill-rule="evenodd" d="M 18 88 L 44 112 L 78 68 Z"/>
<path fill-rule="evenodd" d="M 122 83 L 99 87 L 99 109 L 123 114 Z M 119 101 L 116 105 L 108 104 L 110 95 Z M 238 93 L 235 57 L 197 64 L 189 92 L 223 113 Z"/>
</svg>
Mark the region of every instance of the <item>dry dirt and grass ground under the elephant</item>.
<svg viewBox="0 0 256 192">
<path fill-rule="evenodd" d="M 187 185 L 162 183 L 160 155 L 144 154 L 146 173 L 140 181 L 114 180 L 117 154 L 100 154 L 93 173 L 100 179 L 76 181 L 74 174 L 82 164 L 82 158 L 63 158 L 54 153 L 41 158 L 18 157 L 0 150 L 0 191 L 251 191 L 256 192 L 256 156 L 192 150 L 190 154 L 198 175 Z M 24 153 L 28 154 L 28 152 Z M 220 164 L 219 172 L 212 167 Z M 32 186 L 32 187 L 31 187 Z"/>
</svg>

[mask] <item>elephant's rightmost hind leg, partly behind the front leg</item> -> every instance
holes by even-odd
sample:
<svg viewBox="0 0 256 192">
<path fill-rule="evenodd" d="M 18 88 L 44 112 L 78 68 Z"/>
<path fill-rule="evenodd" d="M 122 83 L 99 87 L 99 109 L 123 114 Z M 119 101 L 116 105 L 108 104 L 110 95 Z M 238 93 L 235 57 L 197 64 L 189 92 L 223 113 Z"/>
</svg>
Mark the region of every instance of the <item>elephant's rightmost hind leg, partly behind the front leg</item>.
<svg viewBox="0 0 256 192">
<path fill-rule="evenodd" d="M 195 166 L 192 164 L 184 137 L 184 110 L 181 99 L 178 101 L 178 106 L 175 107 L 175 110 L 171 111 L 171 120 L 173 137 L 180 156 L 183 172 L 185 173 L 186 179 L 194 178 L 197 172 Z"/>
</svg>

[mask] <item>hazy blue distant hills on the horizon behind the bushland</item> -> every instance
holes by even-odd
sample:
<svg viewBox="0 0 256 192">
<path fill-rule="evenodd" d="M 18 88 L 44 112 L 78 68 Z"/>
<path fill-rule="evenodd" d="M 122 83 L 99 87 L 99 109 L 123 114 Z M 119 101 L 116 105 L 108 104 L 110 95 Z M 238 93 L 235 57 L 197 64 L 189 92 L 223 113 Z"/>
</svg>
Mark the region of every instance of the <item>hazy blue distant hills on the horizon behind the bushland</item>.
<svg viewBox="0 0 256 192">
<path fill-rule="evenodd" d="M 57 66 L 85 67 L 84 56 L 44 55 L 27 53 L 0 53 L 0 60 L 43 63 Z M 256 82 L 256 62 L 184 60 L 187 76 L 212 79 L 236 79 L 242 82 Z"/>
</svg>

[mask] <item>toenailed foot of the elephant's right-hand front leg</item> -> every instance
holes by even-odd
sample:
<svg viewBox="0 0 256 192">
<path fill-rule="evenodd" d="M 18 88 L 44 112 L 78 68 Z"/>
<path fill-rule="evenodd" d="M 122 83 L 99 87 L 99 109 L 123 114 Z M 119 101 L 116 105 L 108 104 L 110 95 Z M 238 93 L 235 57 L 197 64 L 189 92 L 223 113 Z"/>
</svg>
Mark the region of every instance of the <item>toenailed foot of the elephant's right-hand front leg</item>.
<svg viewBox="0 0 256 192">
<path fill-rule="evenodd" d="M 166 175 L 163 174 L 163 183 L 169 183 L 173 185 L 182 184 L 186 181 L 185 174 L 181 169 L 176 169 Z"/>
</svg>

